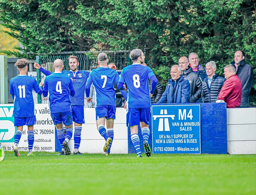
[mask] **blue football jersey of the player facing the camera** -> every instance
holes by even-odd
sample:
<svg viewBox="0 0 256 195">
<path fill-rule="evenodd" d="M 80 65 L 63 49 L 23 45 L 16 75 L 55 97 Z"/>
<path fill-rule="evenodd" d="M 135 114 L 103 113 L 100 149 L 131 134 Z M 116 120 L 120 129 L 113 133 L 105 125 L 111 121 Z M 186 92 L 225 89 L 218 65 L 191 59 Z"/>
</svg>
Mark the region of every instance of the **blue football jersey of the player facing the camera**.
<svg viewBox="0 0 256 195">
<path fill-rule="evenodd" d="M 50 75 L 53 73 L 48 70 L 44 70 L 42 67 L 39 70 L 45 75 Z M 73 79 L 73 87 L 76 93 L 74 97 L 70 96 L 71 105 L 84 106 L 84 90 L 90 72 L 85 70 L 78 70 L 77 72 L 63 70 L 62 73 Z"/>
</svg>

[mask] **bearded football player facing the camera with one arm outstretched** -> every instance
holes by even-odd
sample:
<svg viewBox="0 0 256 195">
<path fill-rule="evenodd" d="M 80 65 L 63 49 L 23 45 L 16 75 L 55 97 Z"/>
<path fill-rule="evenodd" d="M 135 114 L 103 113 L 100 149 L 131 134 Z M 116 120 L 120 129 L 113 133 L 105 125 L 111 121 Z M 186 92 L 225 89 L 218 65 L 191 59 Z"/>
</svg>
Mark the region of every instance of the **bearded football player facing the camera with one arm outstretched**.
<svg viewBox="0 0 256 195">
<path fill-rule="evenodd" d="M 82 153 L 79 152 L 79 146 L 81 142 L 82 124 L 84 123 L 84 90 L 90 72 L 78 70 L 79 62 L 77 56 L 69 56 L 68 60 L 70 70 L 63 70 L 62 73 L 72 78 L 75 89 L 75 96 L 70 97 L 71 113 L 75 126 L 73 155 L 82 155 Z M 45 75 L 53 73 L 40 67 L 38 63 L 34 63 L 34 68 L 39 69 Z M 64 155 L 64 150 L 62 150 L 59 155 Z"/>
</svg>

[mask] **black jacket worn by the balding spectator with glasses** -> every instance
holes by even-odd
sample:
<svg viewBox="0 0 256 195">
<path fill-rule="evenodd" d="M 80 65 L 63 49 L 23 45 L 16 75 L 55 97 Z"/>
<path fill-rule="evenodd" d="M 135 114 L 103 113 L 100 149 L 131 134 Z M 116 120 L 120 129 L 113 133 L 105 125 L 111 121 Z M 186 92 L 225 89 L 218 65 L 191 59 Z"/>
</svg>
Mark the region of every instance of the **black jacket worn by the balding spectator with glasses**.
<svg viewBox="0 0 256 195">
<path fill-rule="evenodd" d="M 201 97 L 202 80 L 190 66 L 187 70 L 181 71 L 181 74 L 190 84 L 190 103 L 195 103 Z"/>
</svg>

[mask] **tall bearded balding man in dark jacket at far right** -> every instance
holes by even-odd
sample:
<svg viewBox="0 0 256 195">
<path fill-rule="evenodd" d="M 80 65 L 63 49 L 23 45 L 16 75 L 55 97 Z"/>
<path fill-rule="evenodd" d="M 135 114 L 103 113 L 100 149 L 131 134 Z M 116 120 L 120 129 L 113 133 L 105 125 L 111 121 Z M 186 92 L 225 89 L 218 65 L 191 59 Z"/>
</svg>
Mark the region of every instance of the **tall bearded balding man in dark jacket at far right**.
<svg viewBox="0 0 256 195">
<path fill-rule="evenodd" d="M 242 98 L 240 107 L 249 107 L 249 94 L 253 85 L 253 70 L 247 62 L 245 62 L 245 54 L 238 50 L 235 53 L 234 61 L 231 62 L 236 68 L 236 75 L 242 83 Z"/>
</svg>

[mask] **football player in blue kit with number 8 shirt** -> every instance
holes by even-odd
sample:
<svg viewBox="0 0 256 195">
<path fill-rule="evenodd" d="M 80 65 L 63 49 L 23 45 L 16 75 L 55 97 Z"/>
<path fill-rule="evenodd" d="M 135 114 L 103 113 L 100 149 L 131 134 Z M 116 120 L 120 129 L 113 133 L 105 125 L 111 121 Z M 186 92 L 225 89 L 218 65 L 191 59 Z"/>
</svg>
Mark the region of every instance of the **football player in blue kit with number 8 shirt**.
<svg viewBox="0 0 256 195">
<path fill-rule="evenodd" d="M 137 157 L 142 157 L 140 149 L 140 140 L 138 136 L 138 125 L 141 125 L 141 132 L 144 139 L 143 145 L 147 157 L 151 156 L 151 149 L 148 144 L 149 128 L 148 123 L 151 117 L 151 100 L 157 79 L 151 68 L 142 66 L 145 56 L 142 50 L 134 49 L 130 52 L 129 57 L 133 64 L 125 67 L 119 79 L 117 87 L 119 90 L 124 89 L 124 83 L 128 89 L 127 105 L 128 112 L 126 115 L 127 127 L 131 129 L 131 140 L 137 152 Z M 152 81 L 152 89 L 149 92 L 148 78 Z"/>
</svg>

